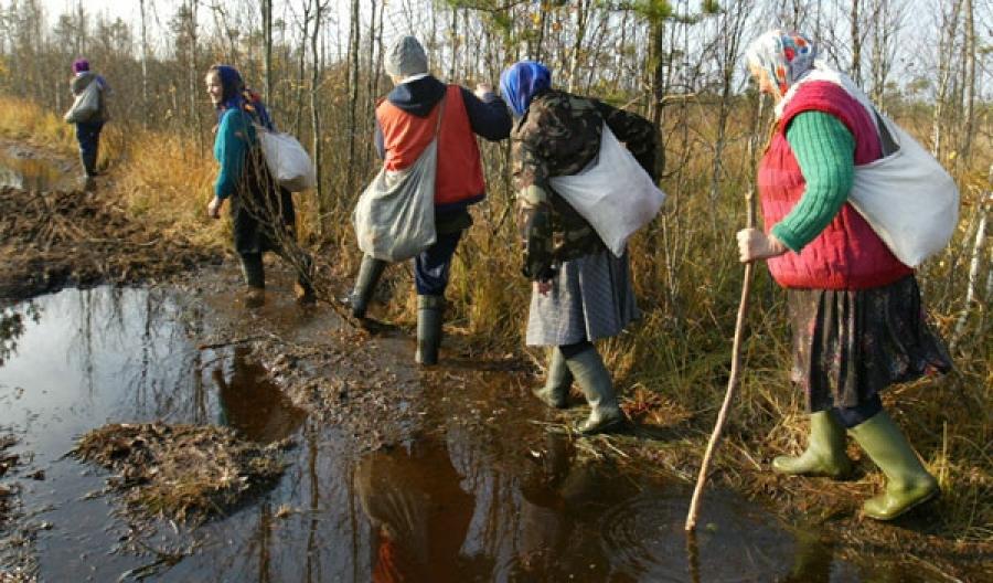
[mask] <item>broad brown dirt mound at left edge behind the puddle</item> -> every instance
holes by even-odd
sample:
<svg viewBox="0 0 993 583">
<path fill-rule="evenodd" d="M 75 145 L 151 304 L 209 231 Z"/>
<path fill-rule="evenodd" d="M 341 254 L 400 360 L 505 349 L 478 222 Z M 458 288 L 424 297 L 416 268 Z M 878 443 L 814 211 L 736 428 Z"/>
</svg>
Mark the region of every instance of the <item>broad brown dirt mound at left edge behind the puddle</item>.
<svg viewBox="0 0 993 583">
<path fill-rule="evenodd" d="M 0 189 L 0 298 L 161 278 L 214 258 L 128 219 L 106 195 Z"/>
</svg>

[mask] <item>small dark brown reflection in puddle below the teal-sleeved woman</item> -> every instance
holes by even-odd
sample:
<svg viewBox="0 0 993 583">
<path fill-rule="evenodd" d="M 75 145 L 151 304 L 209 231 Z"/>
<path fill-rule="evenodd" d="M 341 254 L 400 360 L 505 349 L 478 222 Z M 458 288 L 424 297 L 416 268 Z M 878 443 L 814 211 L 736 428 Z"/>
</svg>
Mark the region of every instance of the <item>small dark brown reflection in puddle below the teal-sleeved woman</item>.
<svg viewBox="0 0 993 583">
<path fill-rule="evenodd" d="M 211 377 L 217 385 L 220 425 L 228 425 L 253 442 L 271 443 L 292 434 L 306 413 L 295 407 L 269 381 L 268 372 L 248 360 L 246 347 L 235 348 L 231 377 L 216 367 Z"/>
</svg>

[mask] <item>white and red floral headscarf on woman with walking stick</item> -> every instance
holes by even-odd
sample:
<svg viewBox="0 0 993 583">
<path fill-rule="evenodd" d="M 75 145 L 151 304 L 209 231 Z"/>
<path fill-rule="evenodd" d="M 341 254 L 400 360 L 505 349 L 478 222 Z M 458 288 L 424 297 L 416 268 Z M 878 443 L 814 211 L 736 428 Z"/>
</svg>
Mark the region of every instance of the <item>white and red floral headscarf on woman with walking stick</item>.
<svg viewBox="0 0 993 583">
<path fill-rule="evenodd" d="M 814 67 L 818 49 L 810 39 L 798 32 L 776 29 L 752 41 L 745 55 L 750 66 L 757 66 L 769 75 L 782 97 Z"/>
</svg>

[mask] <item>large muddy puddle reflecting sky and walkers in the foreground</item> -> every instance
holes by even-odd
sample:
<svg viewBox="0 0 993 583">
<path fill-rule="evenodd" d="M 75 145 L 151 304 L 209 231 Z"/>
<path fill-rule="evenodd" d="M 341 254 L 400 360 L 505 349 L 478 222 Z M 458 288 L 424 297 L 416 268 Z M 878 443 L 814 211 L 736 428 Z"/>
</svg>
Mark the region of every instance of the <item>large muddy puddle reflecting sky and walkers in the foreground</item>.
<svg viewBox="0 0 993 583">
<path fill-rule="evenodd" d="M 260 499 L 193 532 L 160 524 L 145 536 L 148 549 L 190 551 L 152 571 L 158 581 L 878 580 L 722 492 L 708 494 L 701 523 L 712 526 L 687 548 L 686 485 L 576 463 L 566 437 L 528 422 L 544 413 L 506 373 L 405 369 L 419 383 L 419 425 L 356 457 L 348 435 L 306 418 L 244 352 L 197 350 L 211 331 L 201 306 L 168 290 L 67 289 L 0 315 L 0 426 L 46 473 L 19 480 L 28 510 L 53 524 L 39 534 L 44 581 L 115 581 L 157 560 L 119 548 L 131 526 L 111 499 L 86 496 L 105 474 L 63 455 L 106 422 L 158 418 L 300 444 Z M 298 318 L 267 309 L 284 325 Z M 327 320 L 301 326 L 314 333 Z M 392 359 L 409 360 L 406 339 L 376 344 L 397 370 Z"/>
</svg>

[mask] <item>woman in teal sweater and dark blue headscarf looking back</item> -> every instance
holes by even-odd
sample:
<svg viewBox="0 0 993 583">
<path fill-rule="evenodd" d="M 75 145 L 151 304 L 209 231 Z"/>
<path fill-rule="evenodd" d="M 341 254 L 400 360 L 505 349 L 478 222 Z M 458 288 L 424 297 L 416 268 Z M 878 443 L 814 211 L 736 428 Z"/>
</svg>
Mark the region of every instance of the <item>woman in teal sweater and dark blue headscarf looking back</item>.
<svg viewBox="0 0 993 583">
<path fill-rule="evenodd" d="M 265 301 L 263 253 L 267 251 L 296 269 L 297 299 L 312 301 L 312 261 L 295 242 L 293 199 L 273 180 L 258 147 L 256 126 L 274 129 L 268 112 L 234 67 L 214 65 L 205 81 L 217 110 L 214 158 L 221 165 L 207 213 L 220 219 L 224 201 L 231 200 L 234 245 L 248 285 L 248 303 Z"/>
</svg>

